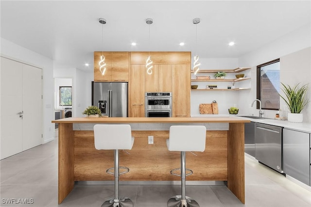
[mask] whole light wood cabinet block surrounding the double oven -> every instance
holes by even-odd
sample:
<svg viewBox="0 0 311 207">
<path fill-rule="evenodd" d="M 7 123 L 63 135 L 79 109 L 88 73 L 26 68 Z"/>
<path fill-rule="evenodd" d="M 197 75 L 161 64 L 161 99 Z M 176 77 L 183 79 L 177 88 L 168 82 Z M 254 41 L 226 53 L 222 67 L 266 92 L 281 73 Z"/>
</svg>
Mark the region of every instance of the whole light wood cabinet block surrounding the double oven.
<svg viewBox="0 0 311 207">
<path fill-rule="evenodd" d="M 145 116 L 145 92 L 172 92 L 173 117 L 190 117 L 191 52 L 150 52 L 153 73 L 146 72 L 149 52 L 130 52 L 129 116 Z"/>
</svg>

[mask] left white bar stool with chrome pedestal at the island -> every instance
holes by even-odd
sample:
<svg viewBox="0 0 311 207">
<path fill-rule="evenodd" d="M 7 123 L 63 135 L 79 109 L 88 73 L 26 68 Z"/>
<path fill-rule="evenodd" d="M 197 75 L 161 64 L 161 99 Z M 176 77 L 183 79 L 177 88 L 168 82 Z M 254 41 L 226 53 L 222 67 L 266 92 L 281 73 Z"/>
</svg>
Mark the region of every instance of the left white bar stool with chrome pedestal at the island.
<svg viewBox="0 0 311 207">
<path fill-rule="evenodd" d="M 115 175 L 115 197 L 104 202 L 102 207 L 133 207 L 133 202 L 127 198 L 119 198 L 119 175 L 128 173 L 126 167 L 119 167 L 119 150 L 131 150 L 134 144 L 131 126 L 128 124 L 96 124 L 94 125 L 94 143 L 97 150 L 114 150 L 115 164 L 106 173 Z M 119 169 L 125 169 L 119 172 Z M 114 170 L 114 173 L 111 171 Z"/>
</svg>

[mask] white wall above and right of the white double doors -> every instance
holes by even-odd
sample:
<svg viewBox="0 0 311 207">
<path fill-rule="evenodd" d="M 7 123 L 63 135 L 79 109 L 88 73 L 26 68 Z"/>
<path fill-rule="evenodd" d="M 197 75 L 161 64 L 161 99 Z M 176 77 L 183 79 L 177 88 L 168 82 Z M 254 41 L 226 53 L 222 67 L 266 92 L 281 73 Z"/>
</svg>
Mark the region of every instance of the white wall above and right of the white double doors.
<svg viewBox="0 0 311 207">
<path fill-rule="evenodd" d="M 30 51 L 3 38 L 1 38 L 0 45 L 1 55 L 42 69 L 43 142 L 46 143 L 53 140 L 54 124 L 51 122 L 54 120 L 53 61 L 41 54 Z"/>
</svg>

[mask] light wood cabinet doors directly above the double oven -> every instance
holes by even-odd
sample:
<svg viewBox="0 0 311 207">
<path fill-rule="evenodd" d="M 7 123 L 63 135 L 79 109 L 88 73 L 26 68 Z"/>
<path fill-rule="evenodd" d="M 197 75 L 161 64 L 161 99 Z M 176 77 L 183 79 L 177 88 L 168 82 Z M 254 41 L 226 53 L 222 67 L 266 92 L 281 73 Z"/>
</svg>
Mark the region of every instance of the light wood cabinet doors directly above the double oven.
<svg viewBox="0 0 311 207">
<path fill-rule="evenodd" d="M 172 92 L 172 65 L 154 65 L 152 74 L 145 70 L 146 92 Z"/>
</svg>

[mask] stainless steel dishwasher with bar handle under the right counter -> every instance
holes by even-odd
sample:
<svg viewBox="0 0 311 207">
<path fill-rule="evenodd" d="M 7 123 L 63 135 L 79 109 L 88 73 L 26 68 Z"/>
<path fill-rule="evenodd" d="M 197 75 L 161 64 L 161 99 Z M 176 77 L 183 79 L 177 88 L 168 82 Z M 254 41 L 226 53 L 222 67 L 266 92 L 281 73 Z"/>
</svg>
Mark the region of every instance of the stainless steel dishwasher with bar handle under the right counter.
<svg viewBox="0 0 311 207">
<path fill-rule="evenodd" d="M 283 173 L 282 127 L 255 123 L 255 158 Z"/>
</svg>

